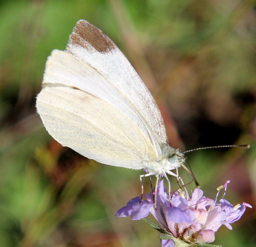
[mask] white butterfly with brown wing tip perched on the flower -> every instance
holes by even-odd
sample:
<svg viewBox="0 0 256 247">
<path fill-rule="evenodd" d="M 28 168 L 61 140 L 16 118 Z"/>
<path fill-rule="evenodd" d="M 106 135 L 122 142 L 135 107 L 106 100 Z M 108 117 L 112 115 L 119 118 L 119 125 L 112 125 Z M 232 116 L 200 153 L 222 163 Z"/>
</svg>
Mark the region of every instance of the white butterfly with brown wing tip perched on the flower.
<svg viewBox="0 0 256 247">
<path fill-rule="evenodd" d="M 140 180 L 178 177 L 171 170 L 183 165 L 183 153 L 168 145 L 155 100 L 114 42 L 85 20 L 66 51 L 48 57 L 36 107 L 55 140 L 89 159 L 144 169 Z"/>
</svg>

